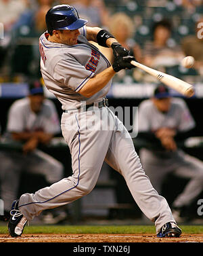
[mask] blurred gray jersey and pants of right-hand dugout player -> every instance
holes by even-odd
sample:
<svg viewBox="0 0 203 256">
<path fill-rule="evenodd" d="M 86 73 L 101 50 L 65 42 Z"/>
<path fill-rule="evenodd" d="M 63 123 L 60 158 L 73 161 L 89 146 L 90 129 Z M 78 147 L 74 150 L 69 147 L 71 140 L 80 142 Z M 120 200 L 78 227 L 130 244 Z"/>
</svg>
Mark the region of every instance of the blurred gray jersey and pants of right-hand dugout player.
<svg viewBox="0 0 203 256">
<path fill-rule="evenodd" d="M 152 100 L 143 100 L 139 105 L 139 132 L 156 132 L 163 127 L 187 132 L 195 125 L 194 118 L 181 98 L 171 98 L 171 108 L 168 113 L 158 111 Z M 183 150 L 178 148 L 176 151 L 164 151 L 164 149 L 142 148 L 139 155 L 152 185 L 160 193 L 168 172 L 190 179 L 183 192 L 173 202 L 173 206 L 181 207 L 190 204 L 202 191 L 203 162 L 189 156 Z"/>
</svg>

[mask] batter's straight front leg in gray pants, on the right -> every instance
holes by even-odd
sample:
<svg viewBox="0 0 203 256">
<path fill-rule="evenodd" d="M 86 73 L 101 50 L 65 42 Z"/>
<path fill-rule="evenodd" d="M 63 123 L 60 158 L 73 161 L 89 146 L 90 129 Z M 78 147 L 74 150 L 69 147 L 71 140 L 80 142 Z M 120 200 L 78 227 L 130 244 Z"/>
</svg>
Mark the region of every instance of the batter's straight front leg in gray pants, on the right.
<svg viewBox="0 0 203 256">
<path fill-rule="evenodd" d="M 106 162 L 125 178 L 135 202 L 145 216 L 155 222 L 158 232 L 165 223 L 175 222 L 175 219 L 165 198 L 158 194 L 145 175 L 133 141 L 119 120 L 117 127 L 106 155 Z"/>
</svg>

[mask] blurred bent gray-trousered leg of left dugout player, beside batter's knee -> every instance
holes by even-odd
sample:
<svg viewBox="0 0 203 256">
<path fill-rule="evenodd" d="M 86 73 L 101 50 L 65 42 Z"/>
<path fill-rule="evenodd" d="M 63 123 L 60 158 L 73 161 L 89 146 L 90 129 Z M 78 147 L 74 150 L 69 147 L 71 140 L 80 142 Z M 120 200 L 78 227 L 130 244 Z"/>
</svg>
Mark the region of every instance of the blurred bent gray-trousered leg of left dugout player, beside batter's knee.
<svg viewBox="0 0 203 256">
<path fill-rule="evenodd" d="M 39 149 L 25 157 L 26 170 L 45 176 L 48 183 L 60 181 L 64 177 L 64 166 L 58 160 Z"/>
</svg>

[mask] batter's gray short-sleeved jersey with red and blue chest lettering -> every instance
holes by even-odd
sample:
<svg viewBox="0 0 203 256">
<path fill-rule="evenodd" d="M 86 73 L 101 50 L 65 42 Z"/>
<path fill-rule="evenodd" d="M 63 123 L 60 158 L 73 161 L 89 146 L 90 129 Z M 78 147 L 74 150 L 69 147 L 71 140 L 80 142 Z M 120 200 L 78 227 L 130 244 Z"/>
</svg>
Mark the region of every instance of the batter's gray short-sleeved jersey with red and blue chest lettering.
<svg viewBox="0 0 203 256">
<path fill-rule="evenodd" d="M 87 41 L 85 27 L 80 31 L 76 45 L 49 42 L 47 33 L 39 39 L 41 73 L 48 90 L 62 103 L 62 109 L 76 109 L 82 101 L 87 105 L 101 101 L 110 90 L 111 81 L 90 98 L 78 94 L 93 75 L 110 67 L 104 54 Z"/>
</svg>

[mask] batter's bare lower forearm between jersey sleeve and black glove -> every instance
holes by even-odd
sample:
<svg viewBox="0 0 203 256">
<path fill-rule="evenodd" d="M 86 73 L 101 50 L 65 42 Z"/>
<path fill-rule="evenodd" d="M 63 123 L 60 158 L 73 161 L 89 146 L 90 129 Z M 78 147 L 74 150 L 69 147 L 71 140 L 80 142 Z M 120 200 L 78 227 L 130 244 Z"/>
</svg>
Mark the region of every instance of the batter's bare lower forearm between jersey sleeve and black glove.
<svg viewBox="0 0 203 256">
<path fill-rule="evenodd" d="M 95 93 L 99 92 L 99 90 L 104 88 L 104 86 L 108 84 L 108 82 L 110 81 L 110 79 L 112 79 L 115 73 L 116 72 L 112 67 L 108 67 L 108 69 L 105 69 L 101 73 L 89 79 L 89 81 L 87 81 L 85 86 L 83 86 L 83 88 L 81 88 L 78 93 L 87 98 L 90 98 Z"/>
</svg>

